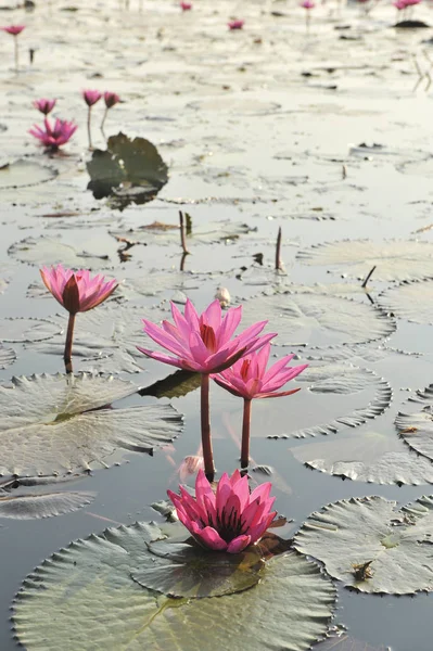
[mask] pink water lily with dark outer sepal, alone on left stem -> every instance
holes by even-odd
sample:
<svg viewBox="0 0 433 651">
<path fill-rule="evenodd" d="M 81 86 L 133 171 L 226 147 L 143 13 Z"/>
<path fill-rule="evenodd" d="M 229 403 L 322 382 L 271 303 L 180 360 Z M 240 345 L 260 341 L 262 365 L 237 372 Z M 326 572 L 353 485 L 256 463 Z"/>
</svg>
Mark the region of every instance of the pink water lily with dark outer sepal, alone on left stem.
<svg viewBox="0 0 433 651">
<path fill-rule="evenodd" d="M 101 275 L 92 278 L 87 269 L 73 271 L 58 265 L 39 271 L 46 288 L 71 315 L 97 307 L 117 286 L 116 280 L 106 281 Z"/>
</svg>

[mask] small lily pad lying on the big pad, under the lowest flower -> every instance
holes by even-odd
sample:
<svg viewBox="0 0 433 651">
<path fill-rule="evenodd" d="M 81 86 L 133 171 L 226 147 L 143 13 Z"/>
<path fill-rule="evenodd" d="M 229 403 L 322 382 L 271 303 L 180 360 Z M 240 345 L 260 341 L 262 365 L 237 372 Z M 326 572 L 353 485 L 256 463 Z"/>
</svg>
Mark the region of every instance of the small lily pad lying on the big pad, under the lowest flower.
<svg viewBox="0 0 433 651">
<path fill-rule="evenodd" d="M 260 579 L 257 548 L 240 554 L 204 551 L 184 542 L 151 542 L 133 580 L 168 597 L 204 598 L 247 590 Z"/>
</svg>

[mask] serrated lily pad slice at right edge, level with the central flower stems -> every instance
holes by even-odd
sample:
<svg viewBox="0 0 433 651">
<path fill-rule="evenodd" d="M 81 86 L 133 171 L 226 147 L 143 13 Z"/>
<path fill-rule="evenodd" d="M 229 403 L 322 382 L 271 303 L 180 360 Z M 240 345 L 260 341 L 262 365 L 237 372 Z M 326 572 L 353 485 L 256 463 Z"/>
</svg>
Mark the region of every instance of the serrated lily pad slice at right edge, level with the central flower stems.
<svg viewBox="0 0 433 651">
<path fill-rule="evenodd" d="M 417 452 L 433 460 L 433 384 L 409 398 L 415 409 L 395 419 L 399 435 Z"/>
</svg>

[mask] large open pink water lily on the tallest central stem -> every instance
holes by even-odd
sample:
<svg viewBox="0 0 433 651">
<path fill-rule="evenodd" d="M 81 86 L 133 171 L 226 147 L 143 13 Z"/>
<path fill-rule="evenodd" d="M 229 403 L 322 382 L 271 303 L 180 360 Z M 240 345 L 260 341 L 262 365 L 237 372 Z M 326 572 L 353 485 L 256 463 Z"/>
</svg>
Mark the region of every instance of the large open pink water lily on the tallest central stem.
<svg viewBox="0 0 433 651">
<path fill-rule="evenodd" d="M 258 337 L 267 323 L 258 321 L 232 339 L 242 318 L 242 306 L 232 307 L 222 316 L 219 301 L 211 303 L 200 316 L 189 299 L 183 315 L 171 303 L 171 315 L 175 324 L 163 321 L 158 328 L 147 319 L 143 323 L 145 334 L 176 357 L 137 347 L 148 357 L 188 371 L 217 373 L 276 336 Z"/>
</svg>

